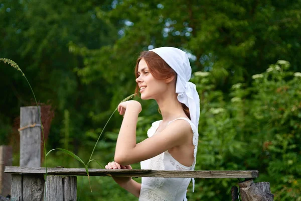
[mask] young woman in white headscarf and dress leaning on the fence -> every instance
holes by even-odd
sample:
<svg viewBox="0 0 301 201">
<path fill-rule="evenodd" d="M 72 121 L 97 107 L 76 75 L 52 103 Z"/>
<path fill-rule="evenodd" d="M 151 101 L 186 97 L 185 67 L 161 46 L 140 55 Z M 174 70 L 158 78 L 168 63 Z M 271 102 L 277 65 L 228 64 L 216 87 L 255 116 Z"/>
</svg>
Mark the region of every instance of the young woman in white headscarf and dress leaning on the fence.
<svg viewBox="0 0 301 201">
<path fill-rule="evenodd" d="M 148 138 L 136 144 L 136 124 L 141 105 L 129 100 L 118 105 L 123 115 L 115 157 L 106 169 L 131 169 L 141 162 L 141 169 L 194 170 L 200 116 L 199 95 L 189 82 L 191 67 L 187 54 L 173 47 L 144 51 L 137 59 L 136 93 L 141 99 L 155 99 L 162 120 L 147 131 Z M 142 177 L 141 184 L 130 177 L 114 177 L 124 189 L 139 200 L 187 200 L 191 178 Z M 193 180 L 194 184 L 194 180 Z"/>
</svg>

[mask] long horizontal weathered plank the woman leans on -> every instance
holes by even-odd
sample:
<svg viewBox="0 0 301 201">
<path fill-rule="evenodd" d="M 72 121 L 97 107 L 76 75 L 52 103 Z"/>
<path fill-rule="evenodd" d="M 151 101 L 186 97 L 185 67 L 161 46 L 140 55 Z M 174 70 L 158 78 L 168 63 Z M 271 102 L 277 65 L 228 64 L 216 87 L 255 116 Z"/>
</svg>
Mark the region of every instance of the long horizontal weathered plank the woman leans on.
<svg viewBox="0 0 301 201">
<path fill-rule="evenodd" d="M 18 174 L 45 174 L 45 168 L 8 166 L 5 172 Z M 87 175 L 84 168 L 47 168 L 47 174 Z M 89 169 L 90 176 L 133 176 L 133 177 L 173 177 L 173 178 L 256 178 L 258 171 L 157 171 L 140 169 Z"/>
</svg>

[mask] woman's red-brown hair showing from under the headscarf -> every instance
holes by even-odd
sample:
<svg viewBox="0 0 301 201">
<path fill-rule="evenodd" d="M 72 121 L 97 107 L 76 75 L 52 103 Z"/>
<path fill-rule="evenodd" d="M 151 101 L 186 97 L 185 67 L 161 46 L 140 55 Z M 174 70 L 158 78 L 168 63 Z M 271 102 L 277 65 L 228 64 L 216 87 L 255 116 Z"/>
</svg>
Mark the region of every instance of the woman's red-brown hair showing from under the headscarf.
<svg viewBox="0 0 301 201">
<path fill-rule="evenodd" d="M 162 59 L 158 54 L 156 54 L 153 51 L 143 51 L 140 53 L 140 56 L 137 59 L 136 66 L 135 66 L 135 75 L 136 78 L 138 75 L 138 64 L 143 59 L 148 67 L 148 70 L 152 75 L 158 79 L 158 80 L 165 80 L 170 77 L 175 77 L 177 79 L 177 73 L 172 69 L 165 61 Z M 139 86 L 138 83 L 136 84 L 135 88 L 136 95 L 139 96 Z M 189 108 L 182 104 L 182 108 L 187 115 L 187 117 L 190 119 L 190 113 Z M 160 109 L 159 109 L 160 110 Z M 159 111 L 160 112 L 160 111 Z"/>
</svg>

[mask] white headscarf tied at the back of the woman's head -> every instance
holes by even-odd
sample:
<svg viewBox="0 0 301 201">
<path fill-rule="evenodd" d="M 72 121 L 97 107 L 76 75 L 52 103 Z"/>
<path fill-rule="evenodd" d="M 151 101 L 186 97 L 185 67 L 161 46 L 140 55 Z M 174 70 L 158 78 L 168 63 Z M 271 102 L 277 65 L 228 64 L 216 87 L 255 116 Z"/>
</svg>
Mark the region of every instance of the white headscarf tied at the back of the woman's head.
<svg viewBox="0 0 301 201">
<path fill-rule="evenodd" d="M 174 47 L 159 47 L 149 51 L 158 54 L 177 73 L 176 93 L 178 100 L 189 108 L 190 119 L 198 130 L 200 97 L 196 85 L 190 82 L 191 66 L 187 54 Z"/>
</svg>

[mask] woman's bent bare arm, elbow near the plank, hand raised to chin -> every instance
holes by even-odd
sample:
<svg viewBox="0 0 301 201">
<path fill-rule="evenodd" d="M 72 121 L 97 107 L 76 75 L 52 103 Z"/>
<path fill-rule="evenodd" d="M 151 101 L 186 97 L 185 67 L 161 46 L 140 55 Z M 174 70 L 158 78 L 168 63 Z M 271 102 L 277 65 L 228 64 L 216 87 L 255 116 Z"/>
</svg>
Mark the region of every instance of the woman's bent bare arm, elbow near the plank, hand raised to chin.
<svg viewBox="0 0 301 201">
<path fill-rule="evenodd" d="M 186 143 L 188 139 L 191 139 L 188 135 L 190 133 L 193 135 L 189 123 L 185 120 L 178 120 L 169 124 L 160 135 L 154 135 L 136 144 L 136 124 L 141 105 L 130 100 L 119 104 L 118 111 L 121 115 L 124 114 L 124 118 L 117 138 L 114 160 L 122 165 L 155 157 L 166 150 Z"/>
</svg>

